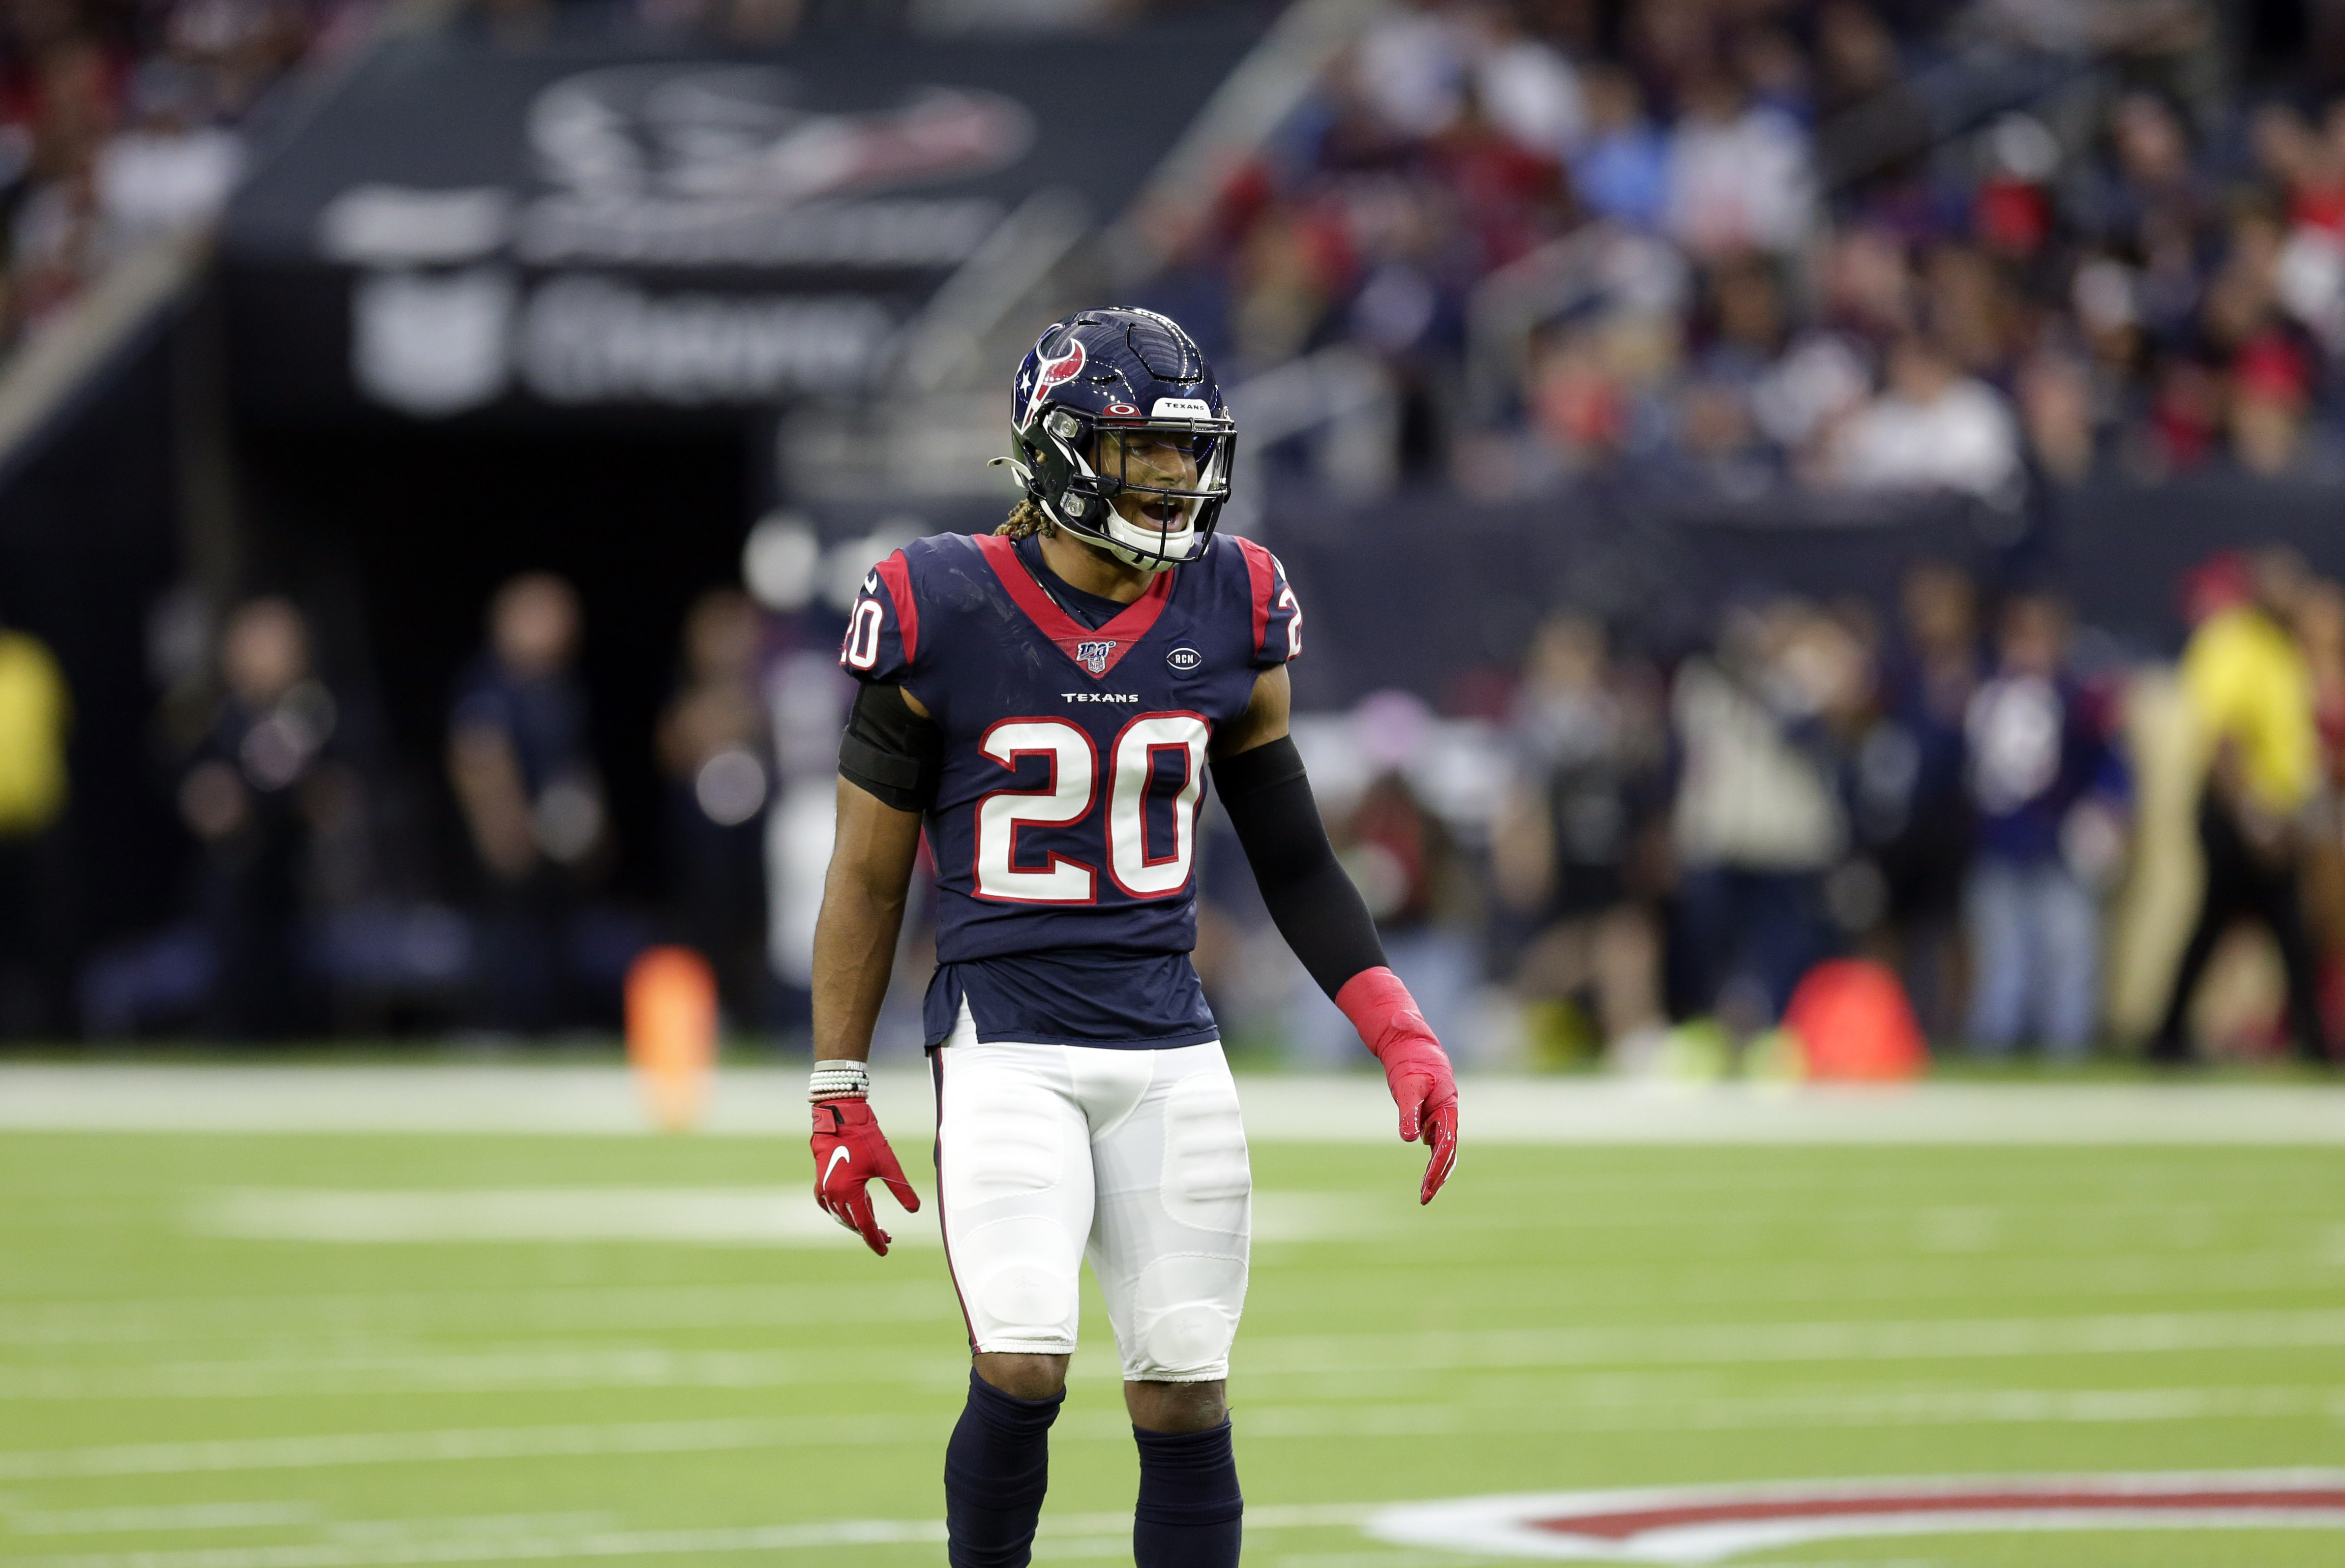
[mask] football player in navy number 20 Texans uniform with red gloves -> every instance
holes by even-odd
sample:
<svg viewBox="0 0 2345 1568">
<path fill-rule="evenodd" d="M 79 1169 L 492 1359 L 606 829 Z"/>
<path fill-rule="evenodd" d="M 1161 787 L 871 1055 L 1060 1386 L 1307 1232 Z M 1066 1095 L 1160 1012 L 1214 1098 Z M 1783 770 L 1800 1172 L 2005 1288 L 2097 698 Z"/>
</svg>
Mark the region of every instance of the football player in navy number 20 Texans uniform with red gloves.
<svg viewBox="0 0 2345 1568">
<path fill-rule="evenodd" d="M 886 1254 L 868 1181 L 919 1198 L 868 1104 L 872 1022 L 926 827 L 936 860 L 936 1179 L 968 1322 L 945 1448 L 954 1568 L 1020 1568 L 1088 1252 L 1140 1444 L 1140 1568 L 1238 1561 L 1224 1378 L 1252 1177 L 1189 949 L 1212 773 L 1280 935 L 1456 1163 L 1456 1080 L 1337 865 L 1287 736 L 1301 609 L 1215 532 L 1236 427 L 1205 356 L 1144 309 L 1053 323 L 1018 370 L 1025 499 L 863 584 L 840 663 L 840 827 L 814 933 L 814 1195 Z"/>
</svg>

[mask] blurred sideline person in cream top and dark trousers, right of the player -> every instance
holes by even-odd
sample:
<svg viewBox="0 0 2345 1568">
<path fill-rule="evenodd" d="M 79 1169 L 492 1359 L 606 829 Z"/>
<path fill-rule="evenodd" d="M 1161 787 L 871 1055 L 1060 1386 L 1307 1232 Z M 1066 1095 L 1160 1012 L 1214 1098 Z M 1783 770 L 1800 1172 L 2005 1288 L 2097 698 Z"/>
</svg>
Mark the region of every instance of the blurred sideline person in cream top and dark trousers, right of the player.
<svg viewBox="0 0 2345 1568">
<path fill-rule="evenodd" d="M 1822 715 L 1860 680 L 1846 630 L 1796 600 L 1728 612 L 1717 659 L 1677 673 L 1670 837 L 1686 1001 L 1735 1034 L 1773 1022 L 1824 952 L 1824 872 L 1848 827 Z"/>
</svg>

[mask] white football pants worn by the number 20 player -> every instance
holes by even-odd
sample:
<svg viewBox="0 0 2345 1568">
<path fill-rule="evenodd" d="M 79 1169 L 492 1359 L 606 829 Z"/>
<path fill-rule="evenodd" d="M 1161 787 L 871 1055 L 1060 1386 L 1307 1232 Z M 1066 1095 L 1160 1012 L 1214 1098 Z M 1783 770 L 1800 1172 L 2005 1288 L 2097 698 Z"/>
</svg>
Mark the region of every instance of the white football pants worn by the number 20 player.
<svg viewBox="0 0 2345 1568">
<path fill-rule="evenodd" d="M 983 1045 L 964 1010 L 931 1059 L 971 1343 L 1072 1355 L 1088 1254 L 1126 1380 L 1226 1378 L 1255 1179 L 1222 1045 Z"/>
</svg>

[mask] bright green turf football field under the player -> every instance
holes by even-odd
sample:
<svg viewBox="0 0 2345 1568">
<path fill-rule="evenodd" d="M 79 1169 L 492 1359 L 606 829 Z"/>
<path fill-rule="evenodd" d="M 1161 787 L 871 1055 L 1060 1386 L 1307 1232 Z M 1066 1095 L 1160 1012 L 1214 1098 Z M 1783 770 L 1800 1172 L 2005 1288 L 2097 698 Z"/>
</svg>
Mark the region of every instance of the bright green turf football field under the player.
<svg viewBox="0 0 2345 1568">
<path fill-rule="evenodd" d="M 746 1137 L 5 1132 L 0 1556 L 940 1563 L 943 1254 L 800 1226 L 802 1165 Z M 2345 1467 L 2338 1148 L 1470 1144 L 1428 1212 L 1414 1172 L 1255 1148 L 1255 1563 L 1498 1561 L 1362 1530 L 1480 1493 Z M 1041 1561 L 1130 1552 L 1095 1294 L 1083 1336 Z M 2312 1568 L 2345 1528 L 1731 1561 Z"/>
</svg>

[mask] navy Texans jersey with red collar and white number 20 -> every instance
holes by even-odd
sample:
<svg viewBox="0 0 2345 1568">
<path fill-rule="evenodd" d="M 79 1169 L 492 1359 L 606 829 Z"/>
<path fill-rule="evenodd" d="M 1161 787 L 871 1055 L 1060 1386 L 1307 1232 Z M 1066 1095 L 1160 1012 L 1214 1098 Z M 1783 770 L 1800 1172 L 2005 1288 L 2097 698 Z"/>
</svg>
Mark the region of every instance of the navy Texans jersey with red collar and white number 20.
<svg viewBox="0 0 2345 1568">
<path fill-rule="evenodd" d="M 931 1045 L 964 1005 L 980 1041 L 1217 1038 L 1189 963 L 1205 748 L 1301 652 L 1301 612 L 1278 558 L 1229 534 L 1102 623 L 1074 600 L 1100 605 L 1034 546 L 936 534 L 872 567 L 847 623 L 847 673 L 945 731 Z"/>
</svg>

